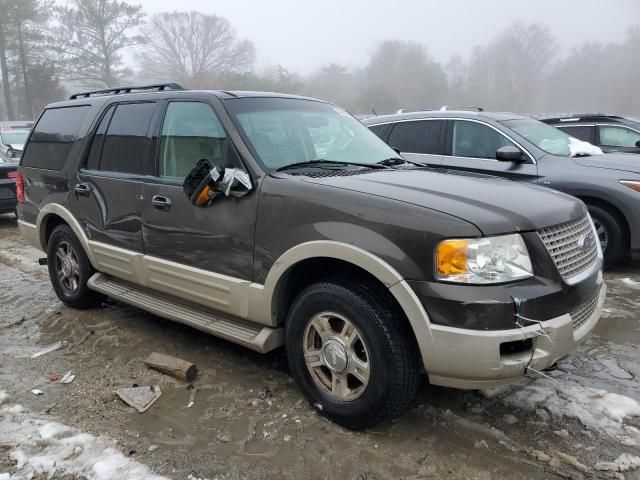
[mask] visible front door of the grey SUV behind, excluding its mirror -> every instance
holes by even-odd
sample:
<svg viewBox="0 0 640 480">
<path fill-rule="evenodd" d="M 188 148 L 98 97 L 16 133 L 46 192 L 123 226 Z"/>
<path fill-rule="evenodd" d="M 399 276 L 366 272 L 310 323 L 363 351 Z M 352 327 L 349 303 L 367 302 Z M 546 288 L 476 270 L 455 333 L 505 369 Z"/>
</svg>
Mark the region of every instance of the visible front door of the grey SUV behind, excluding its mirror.
<svg viewBox="0 0 640 480">
<path fill-rule="evenodd" d="M 450 120 L 442 167 L 496 175 L 510 180 L 536 182 L 538 169 L 531 156 L 525 153 L 524 162 L 504 162 L 496 159 L 496 152 L 505 146 L 521 147 L 492 126 L 473 120 Z"/>
</svg>

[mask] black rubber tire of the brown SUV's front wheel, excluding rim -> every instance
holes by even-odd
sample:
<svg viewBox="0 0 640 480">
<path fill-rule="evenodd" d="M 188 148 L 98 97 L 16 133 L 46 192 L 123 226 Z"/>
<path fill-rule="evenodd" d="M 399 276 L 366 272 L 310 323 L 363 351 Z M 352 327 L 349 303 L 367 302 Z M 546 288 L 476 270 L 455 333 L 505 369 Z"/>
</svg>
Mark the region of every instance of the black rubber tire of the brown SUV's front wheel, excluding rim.
<svg viewBox="0 0 640 480">
<path fill-rule="evenodd" d="M 305 362 L 307 327 L 312 318 L 327 311 L 347 318 L 365 345 L 368 383 L 353 400 L 331 396 Z M 345 280 L 313 284 L 294 300 L 285 335 L 289 368 L 302 393 L 322 415 L 346 428 L 359 430 L 389 420 L 416 393 L 421 362 L 412 333 L 396 309 L 375 290 Z"/>
</svg>

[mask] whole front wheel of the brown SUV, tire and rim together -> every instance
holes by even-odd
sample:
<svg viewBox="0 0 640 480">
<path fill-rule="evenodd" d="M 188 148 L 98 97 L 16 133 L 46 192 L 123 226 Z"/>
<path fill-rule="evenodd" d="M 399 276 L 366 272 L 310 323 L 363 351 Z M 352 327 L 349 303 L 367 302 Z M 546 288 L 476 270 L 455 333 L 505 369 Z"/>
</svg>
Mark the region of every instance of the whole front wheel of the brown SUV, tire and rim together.
<svg viewBox="0 0 640 480">
<path fill-rule="evenodd" d="M 397 416 L 416 393 L 421 362 L 409 330 L 373 290 L 343 280 L 316 283 L 287 316 L 289 368 L 322 415 L 353 430 L 369 428 Z"/>
</svg>

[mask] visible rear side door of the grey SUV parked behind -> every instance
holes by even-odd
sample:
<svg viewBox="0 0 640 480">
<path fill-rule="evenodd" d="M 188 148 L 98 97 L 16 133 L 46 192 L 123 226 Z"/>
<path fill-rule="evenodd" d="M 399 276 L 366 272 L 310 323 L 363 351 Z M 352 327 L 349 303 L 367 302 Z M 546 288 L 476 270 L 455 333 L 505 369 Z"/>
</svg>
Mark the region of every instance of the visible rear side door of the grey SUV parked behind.
<svg viewBox="0 0 640 480">
<path fill-rule="evenodd" d="M 440 166 L 444 154 L 445 120 L 407 120 L 391 127 L 387 143 L 412 162 Z"/>
</svg>

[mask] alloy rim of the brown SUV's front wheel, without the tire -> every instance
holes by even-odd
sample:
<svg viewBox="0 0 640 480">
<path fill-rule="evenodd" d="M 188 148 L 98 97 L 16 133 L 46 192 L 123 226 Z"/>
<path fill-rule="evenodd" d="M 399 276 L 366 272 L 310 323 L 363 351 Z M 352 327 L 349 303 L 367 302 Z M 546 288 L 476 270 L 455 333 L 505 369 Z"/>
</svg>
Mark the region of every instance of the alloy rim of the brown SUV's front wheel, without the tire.
<svg viewBox="0 0 640 480">
<path fill-rule="evenodd" d="M 313 316 L 304 332 L 304 360 L 314 382 L 341 401 L 360 397 L 371 376 L 369 352 L 362 335 L 334 312 Z"/>
</svg>

